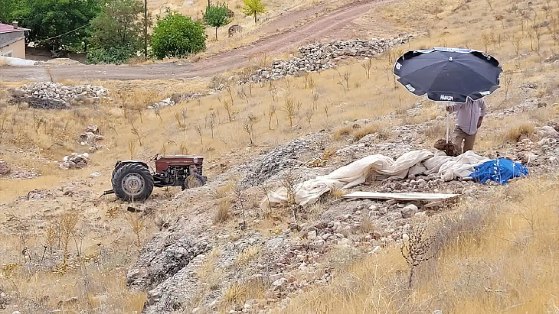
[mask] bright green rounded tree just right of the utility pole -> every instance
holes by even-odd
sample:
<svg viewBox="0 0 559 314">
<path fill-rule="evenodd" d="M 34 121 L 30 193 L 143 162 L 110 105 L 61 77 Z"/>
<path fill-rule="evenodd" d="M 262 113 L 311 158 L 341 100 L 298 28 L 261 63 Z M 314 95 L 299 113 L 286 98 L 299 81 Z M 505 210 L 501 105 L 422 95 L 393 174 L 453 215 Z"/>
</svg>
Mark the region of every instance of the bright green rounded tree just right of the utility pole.
<svg viewBox="0 0 559 314">
<path fill-rule="evenodd" d="M 206 49 L 206 31 L 200 21 L 176 12 L 168 12 L 151 36 L 153 54 L 164 57 L 183 57 Z"/>
</svg>

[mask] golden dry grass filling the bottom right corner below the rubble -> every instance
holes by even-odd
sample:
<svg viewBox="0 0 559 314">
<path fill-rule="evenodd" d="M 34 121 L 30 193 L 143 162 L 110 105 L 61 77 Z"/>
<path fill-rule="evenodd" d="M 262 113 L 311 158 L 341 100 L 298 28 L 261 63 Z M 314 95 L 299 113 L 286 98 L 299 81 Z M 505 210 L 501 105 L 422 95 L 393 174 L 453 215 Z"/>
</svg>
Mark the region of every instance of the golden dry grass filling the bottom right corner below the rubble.
<svg viewBox="0 0 559 314">
<path fill-rule="evenodd" d="M 442 219 L 438 258 L 407 288 L 398 248 L 351 263 L 278 313 L 556 312 L 557 177 L 527 179 Z M 509 202 L 498 202 L 510 197 Z M 490 210 L 483 209 L 493 201 Z M 331 296 L 336 296 L 335 298 Z"/>
</svg>

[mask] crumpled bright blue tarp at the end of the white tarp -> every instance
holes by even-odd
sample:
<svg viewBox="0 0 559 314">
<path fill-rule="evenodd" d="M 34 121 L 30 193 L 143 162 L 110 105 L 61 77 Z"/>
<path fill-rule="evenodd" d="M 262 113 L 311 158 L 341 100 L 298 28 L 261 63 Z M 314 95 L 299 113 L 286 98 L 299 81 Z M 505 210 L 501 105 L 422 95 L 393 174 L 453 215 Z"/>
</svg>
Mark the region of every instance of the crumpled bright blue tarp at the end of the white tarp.
<svg viewBox="0 0 559 314">
<path fill-rule="evenodd" d="M 475 167 L 474 170 L 470 177 L 479 183 L 492 180 L 503 185 L 508 183 L 511 178 L 528 176 L 528 168 L 524 167 L 522 163 L 505 158 L 487 161 Z"/>
</svg>

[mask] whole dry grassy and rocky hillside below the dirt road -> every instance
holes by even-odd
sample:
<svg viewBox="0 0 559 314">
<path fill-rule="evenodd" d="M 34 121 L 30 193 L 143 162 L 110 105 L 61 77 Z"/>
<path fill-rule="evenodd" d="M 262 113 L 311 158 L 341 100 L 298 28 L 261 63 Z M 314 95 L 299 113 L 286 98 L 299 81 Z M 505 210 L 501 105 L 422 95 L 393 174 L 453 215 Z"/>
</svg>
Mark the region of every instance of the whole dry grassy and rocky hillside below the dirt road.
<svg viewBox="0 0 559 314">
<path fill-rule="evenodd" d="M 337 41 L 340 51 L 371 45 L 371 58 L 348 49 L 312 61 L 321 46 L 310 45 L 297 55 L 324 70 L 276 80 L 267 77 L 293 62 L 310 65 L 262 56 L 213 78 L 55 78 L 108 89 L 56 110 L 13 105 L 13 89 L 34 82 L 1 82 L 0 158 L 11 172 L 0 178 L 0 313 L 559 312 L 559 141 L 546 131 L 559 123 L 559 3 L 409 0 L 348 27 L 378 38 Z M 402 52 L 433 46 L 501 61 L 475 152 L 521 162 L 529 178 L 368 180 L 296 210 L 262 206 L 288 173 L 303 181 L 371 154 L 434 151 L 446 115 L 391 74 Z M 89 151 L 77 136 L 93 124 L 104 139 L 87 167 L 61 169 L 65 155 Z M 131 204 L 100 197 L 115 161 L 155 153 L 202 154 L 209 183 Z M 351 191 L 461 196 L 433 207 L 340 200 Z M 400 246 L 414 233 L 431 236 L 433 254 L 410 284 Z"/>
</svg>

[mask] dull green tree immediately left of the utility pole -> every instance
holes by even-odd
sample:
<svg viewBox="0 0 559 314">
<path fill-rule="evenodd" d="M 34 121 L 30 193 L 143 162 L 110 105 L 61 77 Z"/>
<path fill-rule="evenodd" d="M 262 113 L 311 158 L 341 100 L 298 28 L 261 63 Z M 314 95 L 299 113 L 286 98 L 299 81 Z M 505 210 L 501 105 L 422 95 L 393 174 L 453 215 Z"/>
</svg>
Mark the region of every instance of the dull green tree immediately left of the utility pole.
<svg viewBox="0 0 559 314">
<path fill-rule="evenodd" d="M 91 63 L 121 63 L 140 50 L 143 41 L 144 12 L 141 0 L 108 2 L 100 15 L 91 21 L 92 42 L 88 51 Z"/>
</svg>

